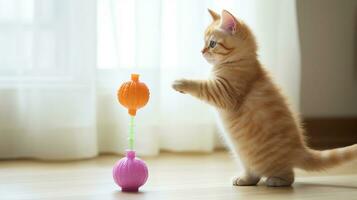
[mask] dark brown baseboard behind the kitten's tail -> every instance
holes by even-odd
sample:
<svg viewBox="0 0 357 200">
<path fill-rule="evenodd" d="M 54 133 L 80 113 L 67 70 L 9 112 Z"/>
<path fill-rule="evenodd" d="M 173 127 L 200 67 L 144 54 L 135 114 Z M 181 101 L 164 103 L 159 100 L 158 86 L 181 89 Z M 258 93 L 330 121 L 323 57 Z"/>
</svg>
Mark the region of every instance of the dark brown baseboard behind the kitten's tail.
<svg viewBox="0 0 357 200">
<path fill-rule="evenodd" d="M 357 117 L 305 118 L 309 146 L 315 149 L 343 147 L 357 143 Z"/>
</svg>

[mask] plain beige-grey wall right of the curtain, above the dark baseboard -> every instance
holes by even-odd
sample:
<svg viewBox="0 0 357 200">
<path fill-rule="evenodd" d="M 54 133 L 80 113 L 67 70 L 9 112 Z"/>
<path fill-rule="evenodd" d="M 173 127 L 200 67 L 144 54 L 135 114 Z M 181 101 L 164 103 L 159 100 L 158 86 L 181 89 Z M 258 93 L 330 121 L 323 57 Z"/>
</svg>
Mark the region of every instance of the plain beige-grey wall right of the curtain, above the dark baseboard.
<svg viewBox="0 0 357 200">
<path fill-rule="evenodd" d="M 297 8 L 303 116 L 357 116 L 357 1 L 299 0 Z"/>
</svg>

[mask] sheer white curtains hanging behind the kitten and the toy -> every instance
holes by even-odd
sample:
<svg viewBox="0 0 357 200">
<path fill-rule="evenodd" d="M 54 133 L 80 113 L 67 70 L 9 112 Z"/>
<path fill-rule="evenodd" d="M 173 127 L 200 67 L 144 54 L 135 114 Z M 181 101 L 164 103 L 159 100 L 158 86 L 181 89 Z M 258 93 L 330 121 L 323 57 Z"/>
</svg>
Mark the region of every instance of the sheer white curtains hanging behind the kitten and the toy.
<svg viewBox="0 0 357 200">
<path fill-rule="evenodd" d="M 294 0 L 0 0 L 0 158 L 77 159 L 123 153 L 129 116 L 118 86 L 140 73 L 151 98 L 136 117 L 135 149 L 217 145 L 212 108 L 174 92 L 206 77 L 207 8 L 230 10 L 259 42 L 263 64 L 299 104 Z"/>
</svg>

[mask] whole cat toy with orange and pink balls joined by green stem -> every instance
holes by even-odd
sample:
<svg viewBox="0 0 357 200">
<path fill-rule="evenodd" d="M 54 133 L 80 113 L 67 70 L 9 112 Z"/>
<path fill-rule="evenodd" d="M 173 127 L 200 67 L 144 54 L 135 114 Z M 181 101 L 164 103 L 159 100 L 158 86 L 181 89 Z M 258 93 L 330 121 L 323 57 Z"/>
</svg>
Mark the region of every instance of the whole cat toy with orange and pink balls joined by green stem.
<svg viewBox="0 0 357 200">
<path fill-rule="evenodd" d="M 113 178 L 123 192 L 137 192 L 148 178 L 148 168 L 145 162 L 135 155 L 134 119 L 136 111 L 149 101 L 149 89 L 145 83 L 139 82 L 139 74 L 132 74 L 131 81 L 123 83 L 117 95 L 119 103 L 128 109 L 130 115 L 129 149 L 126 150 L 126 157 L 114 165 Z"/>
</svg>

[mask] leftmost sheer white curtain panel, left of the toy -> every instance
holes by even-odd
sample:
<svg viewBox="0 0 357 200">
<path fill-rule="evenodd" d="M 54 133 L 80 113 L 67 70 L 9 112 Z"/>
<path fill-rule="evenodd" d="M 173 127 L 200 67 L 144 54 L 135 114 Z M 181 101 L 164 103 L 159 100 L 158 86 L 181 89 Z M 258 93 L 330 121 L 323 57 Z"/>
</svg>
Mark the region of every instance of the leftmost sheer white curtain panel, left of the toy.
<svg viewBox="0 0 357 200">
<path fill-rule="evenodd" d="M 14 7 L 0 18 L 1 37 L 16 38 L 0 47 L 0 71 L 9 69 L 0 73 L 0 158 L 97 155 L 96 1 L 1 4 Z"/>
</svg>

